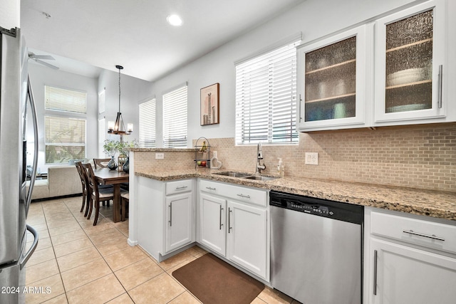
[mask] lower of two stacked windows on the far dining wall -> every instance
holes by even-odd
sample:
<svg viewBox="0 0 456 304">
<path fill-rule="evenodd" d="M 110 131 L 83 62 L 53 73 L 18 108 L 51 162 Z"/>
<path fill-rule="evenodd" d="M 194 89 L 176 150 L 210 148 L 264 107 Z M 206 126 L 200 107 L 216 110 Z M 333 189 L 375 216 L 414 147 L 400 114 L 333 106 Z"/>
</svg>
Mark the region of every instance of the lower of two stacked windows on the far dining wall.
<svg viewBox="0 0 456 304">
<path fill-rule="evenodd" d="M 67 163 L 86 157 L 86 120 L 45 116 L 46 164 Z"/>
</svg>

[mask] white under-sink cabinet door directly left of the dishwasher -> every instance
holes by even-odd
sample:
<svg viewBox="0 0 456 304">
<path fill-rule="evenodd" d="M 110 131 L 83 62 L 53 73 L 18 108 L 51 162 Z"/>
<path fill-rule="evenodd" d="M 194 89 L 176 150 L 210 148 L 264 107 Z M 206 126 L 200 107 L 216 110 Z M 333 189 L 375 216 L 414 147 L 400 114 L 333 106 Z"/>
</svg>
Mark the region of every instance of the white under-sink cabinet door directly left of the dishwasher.
<svg viewBox="0 0 456 304">
<path fill-rule="evenodd" d="M 228 201 L 227 257 L 266 278 L 266 209 Z"/>
</svg>

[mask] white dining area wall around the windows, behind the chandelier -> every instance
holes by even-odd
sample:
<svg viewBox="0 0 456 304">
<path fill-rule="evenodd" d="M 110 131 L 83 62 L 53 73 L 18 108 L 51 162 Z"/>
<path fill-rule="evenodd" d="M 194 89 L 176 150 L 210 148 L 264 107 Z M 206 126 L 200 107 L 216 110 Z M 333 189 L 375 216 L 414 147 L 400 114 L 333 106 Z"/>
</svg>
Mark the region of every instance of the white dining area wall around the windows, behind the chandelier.
<svg viewBox="0 0 456 304">
<path fill-rule="evenodd" d="M 118 73 L 103 70 L 99 78 L 88 78 L 82 75 L 63 72 L 61 70 L 52 70 L 43 65 L 36 63 L 28 64 L 28 73 L 33 89 L 33 95 L 36 101 L 36 112 L 38 115 L 38 168 L 41 172 L 47 171 L 45 164 L 44 152 L 44 116 L 56 115 L 56 111 L 46 111 L 44 106 L 44 85 L 56 86 L 58 88 L 67 88 L 72 90 L 82 90 L 87 93 L 87 114 L 68 114 L 59 112 L 58 115 L 84 117 L 86 118 L 86 157 L 103 156 L 102 151 L 98 151 L 98 119 L 105 117 L 105 138 L 119 140 L 118 135 L 108 135 L 108 120 L 115 120 L 118 112 L 119 85 Z M 152 90 L 152 83 L 133 78 L 128 75 L 121 75 L 121 104 L 125 126 L 128 122 L 134 124 L 133 133 L 124 136 L 125 141 L 139 140 L 139 113 L 138 103 L 148 100 Z M 106 88 L 105 112 L 98 114 L 98 93 Z M 102 139 L 103 141 L 103 139 Z"/>
</svg>

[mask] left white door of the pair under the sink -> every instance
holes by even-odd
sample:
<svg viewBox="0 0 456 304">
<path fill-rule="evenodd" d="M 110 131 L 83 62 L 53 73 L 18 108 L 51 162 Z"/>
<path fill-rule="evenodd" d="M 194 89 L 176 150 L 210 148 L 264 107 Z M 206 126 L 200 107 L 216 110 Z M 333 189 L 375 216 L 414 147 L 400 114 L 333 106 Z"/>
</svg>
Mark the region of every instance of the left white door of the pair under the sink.
<svg viewBox="0 0 456 304">
<path fill-rule="evenodd" d="M 226 254 L 226 209 L 226 200 L 203 193 L 199 195 L 201 243 L 222 256 Z"/>
</svg>

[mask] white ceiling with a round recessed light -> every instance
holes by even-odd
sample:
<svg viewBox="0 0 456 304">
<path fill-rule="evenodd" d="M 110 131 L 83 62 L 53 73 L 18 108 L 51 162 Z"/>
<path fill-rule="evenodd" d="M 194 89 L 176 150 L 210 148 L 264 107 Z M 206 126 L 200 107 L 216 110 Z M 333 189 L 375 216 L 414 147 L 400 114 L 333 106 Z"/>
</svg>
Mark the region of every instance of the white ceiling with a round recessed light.
<svg viewBox="0 0 456 304">
<path fill-rule="evenodd" d="M 303 1 L 21 0 L 21 29 L 30 51 L 61 70 L 97 77 L 123 65 L 154 81 Z"/>
</svg>

